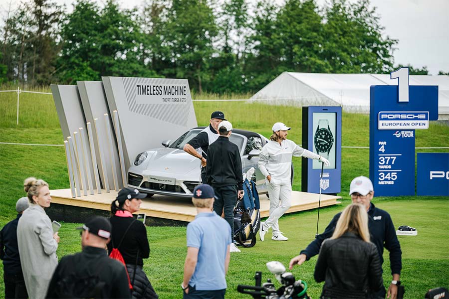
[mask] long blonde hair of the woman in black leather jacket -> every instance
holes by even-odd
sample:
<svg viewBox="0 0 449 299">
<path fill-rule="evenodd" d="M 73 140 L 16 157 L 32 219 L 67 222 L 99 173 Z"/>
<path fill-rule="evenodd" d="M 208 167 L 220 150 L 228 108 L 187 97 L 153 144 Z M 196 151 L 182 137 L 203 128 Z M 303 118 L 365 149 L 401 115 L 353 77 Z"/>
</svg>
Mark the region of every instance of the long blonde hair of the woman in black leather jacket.
<svg viewBox="0 0 449 299">
<path fill-rule="evenodd" d="M 331 239 L 338 239 L 346 232 L 354 233 L 363 241 L 370 242 L 368 213 L 363 205 L 353 203 L 343 210 Z"/>
</svg>

